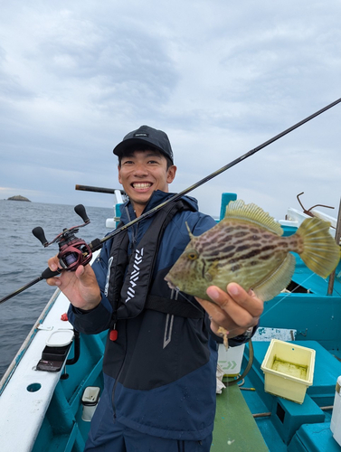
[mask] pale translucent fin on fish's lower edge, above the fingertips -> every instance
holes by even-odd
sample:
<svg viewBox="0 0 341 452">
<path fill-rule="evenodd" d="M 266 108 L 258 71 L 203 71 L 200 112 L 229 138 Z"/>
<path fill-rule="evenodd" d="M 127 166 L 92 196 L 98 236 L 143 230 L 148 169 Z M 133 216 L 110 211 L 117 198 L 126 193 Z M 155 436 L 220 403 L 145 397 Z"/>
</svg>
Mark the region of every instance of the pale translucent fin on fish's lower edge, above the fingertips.
<svg viewBox="0 0 341 452">
<path fill-rule="evenodd" d="M 291 277 L 294 274 L 295 265 L 296 259 L 289 253 L 279 268 L 267 278 L 260 281 L 257 286 L 252 287 L 253 292 L 263 301 L 269 301 L 273 297 L 276 297 L 283 288 L 289 285 Z"/>
</svg>

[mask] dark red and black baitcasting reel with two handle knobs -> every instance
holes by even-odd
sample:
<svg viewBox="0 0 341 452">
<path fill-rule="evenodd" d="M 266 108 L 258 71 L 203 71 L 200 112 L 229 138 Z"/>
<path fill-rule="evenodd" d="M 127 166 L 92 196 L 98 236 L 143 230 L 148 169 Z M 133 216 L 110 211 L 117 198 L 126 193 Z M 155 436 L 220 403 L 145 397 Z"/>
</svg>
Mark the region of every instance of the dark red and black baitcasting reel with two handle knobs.
<svg viewBox="0 0 341 452">
<path fill-rule="evenodd" d="M 40 240 L 45 248 L 52 245 L 52 243 L 58 243 L 59 261 L 62 268 L 69 271 L 75 271 L 80 265 L 87 265 L 92 257 L 90 246 L 84 240 L 75 236 L 75 233 L 79 231 L 79 228 L 90 223 L 87 212 L 85 212 L 85 208 L 82 204 L 76 205 L 74 212 L 80 215 L 84 223 L 70 229 L 64 229 L 50 242 L 46 240 L 43 228 L 40 226 L 34 228 L 32 231 L 34 237 Z"/>
</svg>

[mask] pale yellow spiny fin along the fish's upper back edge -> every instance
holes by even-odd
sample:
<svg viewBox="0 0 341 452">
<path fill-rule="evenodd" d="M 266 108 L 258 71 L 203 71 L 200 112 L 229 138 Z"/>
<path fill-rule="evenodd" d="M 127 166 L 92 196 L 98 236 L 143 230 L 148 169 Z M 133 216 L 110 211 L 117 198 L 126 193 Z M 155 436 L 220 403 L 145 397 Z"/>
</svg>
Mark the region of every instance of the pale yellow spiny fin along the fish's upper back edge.
<svg viewBox="0 0 341 452">
<path fill-rule="evenodd" d="M 277 235 L 283 234 L 280 224 L 268 212 L 264 212 L 256 204 L 245 204 L 242 200 L 229 202 L 226 206 L 224 218 L 251 221 Z"/>
</svg>

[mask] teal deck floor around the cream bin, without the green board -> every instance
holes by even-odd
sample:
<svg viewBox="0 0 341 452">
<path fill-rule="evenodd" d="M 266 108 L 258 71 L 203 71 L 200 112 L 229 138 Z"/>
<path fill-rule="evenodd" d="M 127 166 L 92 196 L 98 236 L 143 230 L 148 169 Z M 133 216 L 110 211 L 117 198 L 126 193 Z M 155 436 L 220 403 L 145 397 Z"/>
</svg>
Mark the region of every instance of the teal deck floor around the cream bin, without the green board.
<svg viewBox="0 0 341 452">
<path fill-rule="evenodd" d="M 267 416 L 256 419 L 256 423 L 269 450 L 340 452 L 341 447 L 332 438 L 330 431 L 332 410 L 326 410 L 325 407 L 334 403 L 336 380 L 341 375 L 341 363 L 316 341 L 296 342 L 298 345 L 316 350 L 314 382 L 308 388 L 304 402 L 298 404 L 264 391 L 264 374 L 260 365 L 269 344 L 268 342 L 253 344 L 253 366 L 242 385 L 242 388 L 255 389 L 255 391 L 242 389 L 242 395 L 251 413 L 268 413 Z"/>
</svg>

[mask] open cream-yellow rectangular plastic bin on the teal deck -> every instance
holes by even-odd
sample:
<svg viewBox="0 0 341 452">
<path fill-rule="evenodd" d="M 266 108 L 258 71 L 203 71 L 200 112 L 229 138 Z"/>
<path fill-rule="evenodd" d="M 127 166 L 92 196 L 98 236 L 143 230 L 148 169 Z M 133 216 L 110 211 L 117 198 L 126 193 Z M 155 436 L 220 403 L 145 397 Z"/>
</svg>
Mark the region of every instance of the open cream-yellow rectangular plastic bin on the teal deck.
<svg viewBox="0 0 341 452">
<path fill-rule="evenodd" d="M 272 339 L 260 369 L 264 390 L 303 403 L 313 384 L 316 352 L 312 348 Z"/>
</svg>

